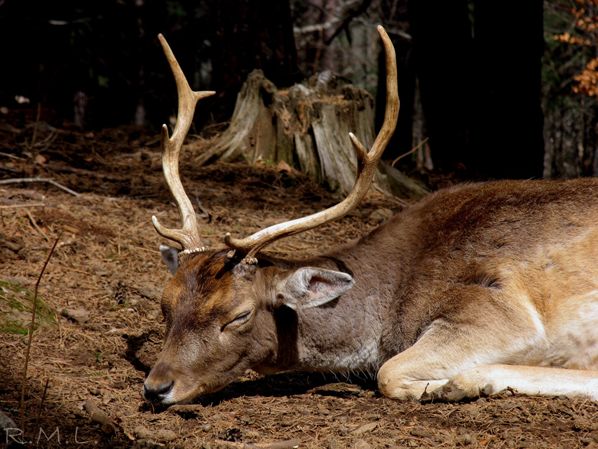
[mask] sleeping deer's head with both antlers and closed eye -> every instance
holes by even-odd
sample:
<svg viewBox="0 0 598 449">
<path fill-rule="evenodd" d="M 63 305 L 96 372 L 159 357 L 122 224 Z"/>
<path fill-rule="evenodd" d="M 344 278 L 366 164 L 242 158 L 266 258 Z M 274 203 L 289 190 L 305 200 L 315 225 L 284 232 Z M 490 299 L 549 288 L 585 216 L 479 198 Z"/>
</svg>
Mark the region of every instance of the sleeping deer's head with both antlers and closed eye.
<svg viewBox="0 0 598 449">
<path fill-rule="evenodd" d="M 163 36 L 158 36 L 177 83 L 179 113 L 168 137 L 162 128 L 163 170 L 181 215 L 182 229 L 166 229 L 152 217 L 156 231 L 180 243 L 161 246 L 174 275 L 165 287 L 166 322 L 162 354 L 144 384 L 144 396 L 157 403 L 187 401 L 221 389 L 248 368 L 273 373 L 293 366 L 281 347 L 289 344 L 285 320 L 293 311 L 318 307 L 353 286 L 351 274 L 311 266 L 309 262 L 273 260 L 259 254 L 285 236 L 337 220 L 358 206 L 372 182 L 376 165 L 393 135 L 399 110 L 395 51 L 378 27 L 386 52 L 386 114 L 369 152 L 355 135 L 357 180 L 344 201 L 308 217 L 274 225 L 245 239 L 224 239 L 228 249 L 209 250 L 200 239 L 196 215 L 178 173 L 178 156 L 196 103 L 214 92 L 193 92 Z M 283 323 L 283 324 L 281 324 Z"/>
</svg>

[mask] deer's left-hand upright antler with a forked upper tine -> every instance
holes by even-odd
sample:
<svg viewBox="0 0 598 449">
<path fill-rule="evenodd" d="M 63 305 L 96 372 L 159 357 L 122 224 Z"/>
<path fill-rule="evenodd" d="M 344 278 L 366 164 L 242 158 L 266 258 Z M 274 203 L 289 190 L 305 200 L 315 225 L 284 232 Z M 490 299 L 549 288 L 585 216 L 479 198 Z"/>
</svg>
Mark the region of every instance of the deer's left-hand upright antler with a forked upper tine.
<svg viewBox="0 0 598 449">
<path fill-rule="evenodd" d="M 168 42 L 162 34 L 158 34 L 158 39 L 162 45 L 168 65 L 175 76 L 177 83 L 177 93 L 179 97 L 179 112 L 177 114 L 177 124 L 175 130 L 172 132 L 172 137 L 168 138 L 168 127 L 162 126 L 161 144 L 162 144 L 162 169 L 164 177 L 170 193 L 174 197 L 179 213 L 181 215 L 182 229 L 168 229 L 161 225 L 156 216 L 151 217 L 151 222 L 154 223 L 156 231 L 166 239 L 176 241 L 183 247 L 182 253 L 194 253 L 205 250 L 207 247 L 203 246 L 200 239 L 199 229 L 197 227 L 197 219 L 193 205 L 186 195 L 181 178 L 179 175 L 179 153 L 183 145 L 183 141 L 191 127 L 193 114 L 197 102 L 202 98 L 214 95 L 212 91 L 191 91 L 189 83 L 187 82 L 177 58 L 170 50 Z"/>
</svg>

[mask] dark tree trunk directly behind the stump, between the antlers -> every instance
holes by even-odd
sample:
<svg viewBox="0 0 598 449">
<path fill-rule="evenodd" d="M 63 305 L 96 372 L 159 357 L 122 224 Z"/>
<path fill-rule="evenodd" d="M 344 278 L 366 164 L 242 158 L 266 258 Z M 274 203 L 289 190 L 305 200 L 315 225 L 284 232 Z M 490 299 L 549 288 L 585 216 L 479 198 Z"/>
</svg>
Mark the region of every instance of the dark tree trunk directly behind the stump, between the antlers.
<svg viewBox="0 0 598 449">
<path fill-rule="evenodd" d="M 216 119 L 229 119 L 247 75 L 261 69 L 276 86 L 297 81 L 297 52 L 288 0 L 215 0 L 211 2 L 212 90 Z"/>
</svg>

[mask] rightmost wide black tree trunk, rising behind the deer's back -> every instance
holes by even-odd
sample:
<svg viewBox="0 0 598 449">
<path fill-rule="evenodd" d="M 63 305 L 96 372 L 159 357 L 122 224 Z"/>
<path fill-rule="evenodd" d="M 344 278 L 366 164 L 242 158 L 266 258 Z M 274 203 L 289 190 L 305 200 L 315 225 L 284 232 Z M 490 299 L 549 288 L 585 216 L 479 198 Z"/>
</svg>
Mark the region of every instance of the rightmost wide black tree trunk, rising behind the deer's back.
<svg viewBox="0 0 598 449">
<path fill-rule="evenodd" d="M 471 154 L 501 177 L 541 177 L 541 0 L 475 3 L 475 93 Z"/>
</svg>

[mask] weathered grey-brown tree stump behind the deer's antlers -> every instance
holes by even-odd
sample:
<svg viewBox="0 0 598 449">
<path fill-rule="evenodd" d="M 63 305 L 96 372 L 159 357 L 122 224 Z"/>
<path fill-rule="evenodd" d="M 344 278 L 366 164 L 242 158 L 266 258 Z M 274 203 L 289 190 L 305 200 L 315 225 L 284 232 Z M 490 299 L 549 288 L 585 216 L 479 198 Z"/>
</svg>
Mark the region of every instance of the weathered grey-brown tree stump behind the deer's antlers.
<svg viewBox="0 0 598 449">
<path fill-rule="evenodd" d="M 374 102 L 364 89 L 322 72 L 277 89 L 254 70 L 237 96 L 231 124 L 197 163 L 286 161 L 341 194 L 351 192 L 357 157 L 348 133 L 366 148 L 374 142 Z M 386 192 L 419 199 L 425 187 L 381 163 L 374 182 Z"/>
</svg>

